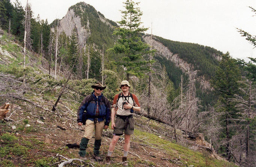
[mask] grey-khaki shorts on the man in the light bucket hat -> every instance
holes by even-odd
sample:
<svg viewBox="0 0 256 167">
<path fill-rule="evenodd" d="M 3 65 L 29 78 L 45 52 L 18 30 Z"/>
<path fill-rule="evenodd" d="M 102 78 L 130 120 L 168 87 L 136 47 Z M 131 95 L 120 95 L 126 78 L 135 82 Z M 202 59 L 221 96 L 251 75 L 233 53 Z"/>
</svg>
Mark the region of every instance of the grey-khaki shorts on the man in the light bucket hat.
<svg viewBox="0 0 256 167">
<path fill-rule="evenodd" d="M 127 121 L 128 120 L 128 121 Z M 126 135 L 133 135 L 134 133 L 134 119 L 129 118 L 129 119 L 121 119 L 121 118 L 116 118 L 115 119 L 115 127 L 114 127 L 114 135 L 121 136 L 126 134 Z"/>
</svg>

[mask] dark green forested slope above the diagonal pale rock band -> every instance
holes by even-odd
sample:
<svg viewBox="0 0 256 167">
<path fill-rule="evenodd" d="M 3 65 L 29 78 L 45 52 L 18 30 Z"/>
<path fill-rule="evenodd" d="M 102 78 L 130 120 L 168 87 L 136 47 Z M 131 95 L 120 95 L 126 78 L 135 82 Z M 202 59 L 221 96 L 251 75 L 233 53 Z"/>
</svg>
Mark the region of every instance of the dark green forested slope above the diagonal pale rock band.
<svg viewBox="0 0 256 167">
<path fill-rule="evenodd" d="M 214 75 L 219 64 L 218 60 L 214 56 L 221 56 L 223 54 L 222 52 L 204 45 L 177 42 L 166 40 L 162 37 L 155 37 L 163 45 L 168 47 L 173 54 L 178 54 L 181 59 L 192 64 L 194 66 L 194 70 L 199 70 L 198 76 L 204 75 L 208 80 Z"/>
</svg>

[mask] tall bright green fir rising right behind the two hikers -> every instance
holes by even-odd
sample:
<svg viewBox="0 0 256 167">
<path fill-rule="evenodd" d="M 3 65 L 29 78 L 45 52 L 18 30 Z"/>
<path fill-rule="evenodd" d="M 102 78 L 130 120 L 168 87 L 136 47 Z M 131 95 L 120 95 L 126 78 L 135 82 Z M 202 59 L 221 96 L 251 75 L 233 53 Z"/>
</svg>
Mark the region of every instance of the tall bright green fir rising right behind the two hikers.
<svg viewBox="0 0 256 167">
<path fill-rule="evenodd" d="M 121 59 L 117 62 L 124 67 L 126 78 L 130 75 L 142 76 L 149 67 L 146 67 L 148 61 L 143 59 L 143 56 L 149 54 L 149 45 L 141 41 L 141 33 L 148 28 L 141 26 L 142 12 L 133 0 L 126 0 L 124 2 L 125 10 L 122 10 L 122 20 L 119 21 L 120 27 L 116 28 L 113 35 L 119 38 L 113 48 L 109 50 L 120 54 Z"/>
</svg>

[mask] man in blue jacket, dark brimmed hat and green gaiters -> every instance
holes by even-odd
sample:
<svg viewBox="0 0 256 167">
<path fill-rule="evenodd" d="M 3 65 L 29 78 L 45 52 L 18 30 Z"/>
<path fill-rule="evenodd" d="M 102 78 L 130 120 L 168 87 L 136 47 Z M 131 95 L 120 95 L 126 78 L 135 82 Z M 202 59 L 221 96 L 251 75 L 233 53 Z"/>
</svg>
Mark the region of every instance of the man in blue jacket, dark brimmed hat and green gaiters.
<svg viewBox="0 0 256 167">
<path fill-rule="evenodd" d="M 95 129 L 93 157 L 96 161 L 100 161 L 99 149 L 101 145 L 102 132 L 103 128 L 108 129 L 111 110 L 108 99 L 102 94 L 102 91 L 106 86 L 96 83 L 91 87 L 94 91 L 91 95 L 84 98 L 77 111 L 78 125 L 85 125 L 85 134 L 81 139 L 80 151 L 78 154 L 81 157 L 85 157 L 88 141 L 93 136 L 93 129 Z"/>
</svg>

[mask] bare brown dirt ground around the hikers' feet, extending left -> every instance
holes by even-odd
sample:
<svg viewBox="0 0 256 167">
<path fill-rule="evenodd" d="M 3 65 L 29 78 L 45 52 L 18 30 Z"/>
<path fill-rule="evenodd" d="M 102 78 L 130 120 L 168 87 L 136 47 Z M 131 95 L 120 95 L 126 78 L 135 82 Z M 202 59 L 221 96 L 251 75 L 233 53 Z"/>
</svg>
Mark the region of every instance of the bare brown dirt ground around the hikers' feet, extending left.
<svg viewBox="0 0 256 167">
<path fill-rule="evenodd" d="M 13 104 L 14 103 L 14 104 Z M 11 111 L 7 114 L 7 117 L 10 116 L 12 122 L 6 122 L 6 124 L 1 123 L 1 131 L 0 135 L 6 132 L 10 132 L 18 136 L 19 138 L 24 138 L 29 140 L 30 138 L 37 139 L 38 141 L 43 142 L 45 145 L 45 149 L 29 149 L 29 156 L 25 161 L 36 160 L 37 158 L 42 157 L 54 157 L 56 156 L 56 152 L 58 150 L 65 150 L 68 152 L 67 155 L 63 155 L 66 158 L 79 158 L 78 151 L 79 148 L 66 148 L 67 144 L 78 144 L 81 141 L 81 138 L 84 134 L 84 126 L 79 127 L 76 123 L 76 117 L 71 114 L 64 114 L 60 111 L 56 113 L 43 111 L 41 108 L 34 107 L 33 105 L 24 102 L 24 101 L 13 101 L 10 103 Z M 16 105 L 19 104 L 20 105 Z M 22 120 L 28 119 L 29 123 L 34 132 L 26 133 L 24 131 L 13 130 L 10 126 L 20 126 L 22 125 Z M 43 122 L 43 124 L 38 123 L 37 120 Z M 62 130 L 57 126 L 63 127 L 66 130 Z M 136 127 L 135 127 L 136 128 Z M 108 151 L 108 145 L 111 142 L 112 130 L 109 128 L 103 131 L 102 137 L 102 146 L 100 148 L 100 157 L 102 161 L 96 163 L 93 158 L 93 144 L 94 138 L 89 141 L 87 148 L 86 158 L 90 160 L 95 166 L 105 166 L 105 156 Z M 118 164 L 121 162 L 121 157 L 123 155 L 123 137 L 121 136 L 118 144 L 115 147 L 115 151 L 112 153 L 111 157 L 111 166 L 122 166 L 122 164 Z M 55 151 L 48 151 L 55 150 Z M 62 155 L 62 154 L 61 154 Z M 22 161 L 22 157 L 12 157 L 10 158 L 14 164 L 19 164 Z M 32 160 L 32 161 L 33 161 Z M 144 166 L 158 166 L 158 167 L 177 167 L 175 164 L 171 162 L 172 157 L 167 154 L 162 149 L 157 149 L 149 145 L 141 144 L 135 140 L 131 140 L 130 150 L 128 154 L 127 160 L 129 161 L 129 166 L 135 167 L 144 167 Z M 33 166 L 33 162 L 30 164 Z"/>
</svg>

